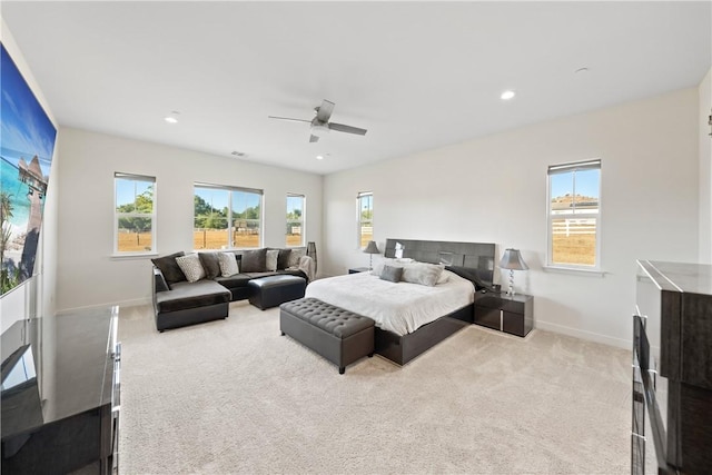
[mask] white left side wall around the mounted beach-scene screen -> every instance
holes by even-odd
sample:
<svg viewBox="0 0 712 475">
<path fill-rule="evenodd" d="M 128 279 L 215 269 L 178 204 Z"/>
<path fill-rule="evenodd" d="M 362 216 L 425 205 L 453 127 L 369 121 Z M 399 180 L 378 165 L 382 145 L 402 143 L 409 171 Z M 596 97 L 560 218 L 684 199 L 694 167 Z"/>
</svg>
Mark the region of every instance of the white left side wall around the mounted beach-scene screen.
<svg viewBox="0 0 712 475">
<path fill-rule="evenodd" d="M 32 71 L 14 41 L 12 32 L 0 18 L 0 40 L 8 50 L 10 58 L 17 65 L 20 73 L 34 93 L 34 97 L 44 109 L 44 112 L 57 127 L 42 91 L 32 76 Z M 4 331 L 14 321 L 36 316 L 55 315 L 56 279 L 57 279 L 57 215 L 59 192 L 59 154 L 55 147 L 52 167 L 44 198 L 42 227 L 40 229 L 40 244 L 34 261 L 34 277 L 26 280 L 8 294 L 0 297 L 0 330 Z"/>
</svg>

